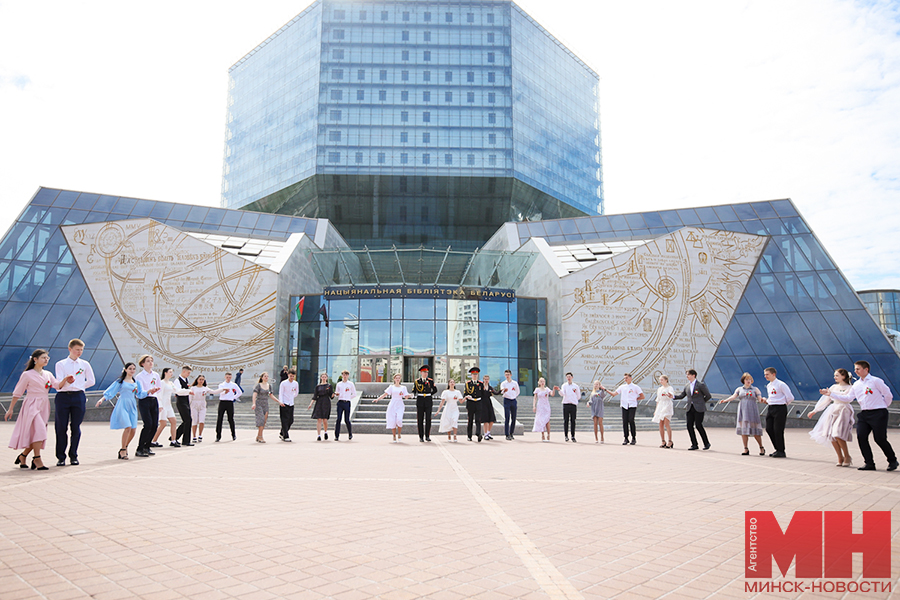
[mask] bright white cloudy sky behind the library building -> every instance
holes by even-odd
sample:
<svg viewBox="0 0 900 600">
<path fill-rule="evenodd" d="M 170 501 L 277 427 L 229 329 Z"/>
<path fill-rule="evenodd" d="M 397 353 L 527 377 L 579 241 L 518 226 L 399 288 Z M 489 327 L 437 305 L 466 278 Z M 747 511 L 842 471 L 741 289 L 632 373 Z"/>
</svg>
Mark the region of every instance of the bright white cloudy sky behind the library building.
<svg viewBox="0 0 900 600">
<path fill-rule="evenodd" d="M 39 186 L 218 205 L 228 68 L 309 2 L 0 0 L 0 232 Z M 606 212 L 791 198 L 900 288 L 900 0 L 521 0 L 600 75 Z"/>
</svg>

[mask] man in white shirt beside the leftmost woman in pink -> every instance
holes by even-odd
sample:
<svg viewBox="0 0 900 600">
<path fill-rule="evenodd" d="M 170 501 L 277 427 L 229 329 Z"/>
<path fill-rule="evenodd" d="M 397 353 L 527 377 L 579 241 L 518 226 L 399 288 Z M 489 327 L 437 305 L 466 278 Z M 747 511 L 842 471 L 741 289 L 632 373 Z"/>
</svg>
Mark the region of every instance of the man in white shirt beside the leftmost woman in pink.
<svg viewBox="0 0 900 600">
<path fill-rule="evenodd" d="M 69 342 L 69 356 L 56 363 L 56 379 L 62 381 L 69 376 L 74 378 L 59 388 L 54 400 L 56 425 L 56 466 L 66 464 L 66 446 L 68 446 L 69 463 L 78 463 L 78 443 L 81 441 L 81 422 L 84 420 L 84 409 L 87 398 L 85 390 L 92 387 L 94 370 L 91 364 L 81 358 L 84 342 L 74 339 Z M 69 444 L 67 430 L 71 427 L 72 443 Z"/>
</svg>

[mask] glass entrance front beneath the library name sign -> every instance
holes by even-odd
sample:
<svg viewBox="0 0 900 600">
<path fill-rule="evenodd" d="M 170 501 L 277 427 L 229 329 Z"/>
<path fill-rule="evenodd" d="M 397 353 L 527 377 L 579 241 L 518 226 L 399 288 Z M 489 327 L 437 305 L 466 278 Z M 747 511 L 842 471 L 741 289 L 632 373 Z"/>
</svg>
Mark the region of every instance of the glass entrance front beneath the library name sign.
<svg viewBox="0 0 900 600">
<path fill-rule="evenodd" d="M 546 373 L 547 302 L 307 296 L 300 319 L 291 315 L 291 354 L 301 389 L 315 387 L 322 372 L 337 380 L 344 369 L 362 383 L 390 382 L 394 373 L 412 381 L 427 364 L 440 382 L 465 379 L 473 366 L 500 381 L 510 369 L 528 394 Z"/>
</svg>

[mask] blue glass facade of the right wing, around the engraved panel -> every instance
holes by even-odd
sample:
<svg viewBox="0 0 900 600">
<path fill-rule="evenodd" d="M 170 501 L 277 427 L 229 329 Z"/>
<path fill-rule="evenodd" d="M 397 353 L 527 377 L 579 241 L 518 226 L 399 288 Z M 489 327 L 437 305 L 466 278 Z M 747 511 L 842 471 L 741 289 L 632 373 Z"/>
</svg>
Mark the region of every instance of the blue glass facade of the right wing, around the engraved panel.
<svg viewBox="0 0 900 600">
<path fill-rule="evenodd" d="M 872 363 L 900 390 L 900 355 L 790 200 L 751 202 L 517 223 L 519 240 L 550 244 L 647 239 L 686 225 L 771 236 L 707 373 L 713 393 L 731 393 L 740 376 L 759 380 L 765 367 L 798 397 L 818 398 L 838 367 Z"/>
</svg>

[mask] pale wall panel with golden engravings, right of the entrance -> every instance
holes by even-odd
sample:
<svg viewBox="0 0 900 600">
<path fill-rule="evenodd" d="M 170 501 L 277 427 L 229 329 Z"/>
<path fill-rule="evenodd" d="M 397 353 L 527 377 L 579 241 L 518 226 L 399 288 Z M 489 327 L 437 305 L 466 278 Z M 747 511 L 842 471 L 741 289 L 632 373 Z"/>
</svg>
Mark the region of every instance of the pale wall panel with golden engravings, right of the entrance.
<svg viewBox="0 0 900 600">
<path fill-rule="evenodd" d="M 688 227 L 567 276 L 563 370 L 654 387 L 659 373 L 704 372 L 766 239 Z"/>
</svg>

